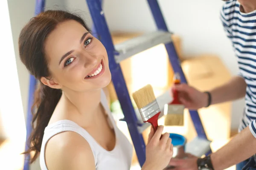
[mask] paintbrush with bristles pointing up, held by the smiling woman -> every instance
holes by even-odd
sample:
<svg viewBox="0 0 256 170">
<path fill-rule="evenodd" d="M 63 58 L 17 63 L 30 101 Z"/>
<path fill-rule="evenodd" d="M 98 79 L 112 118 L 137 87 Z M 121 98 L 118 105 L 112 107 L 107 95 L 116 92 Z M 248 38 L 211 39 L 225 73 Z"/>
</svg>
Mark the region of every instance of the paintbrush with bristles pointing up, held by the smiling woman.
<svg viewBox="0 0 256 170">
<path fill-rule="evenodd" d="M 158 127 L 157 121 L 160 114 L 160 108 L 157 104 L 152 86 L 146 85 L 138 91 L 135 91 L 132 94 L 132 97 L 139 108 L 143 122 L 150 123 L 154 128 L 154 131 L 156 131 Z"/>
</svg>

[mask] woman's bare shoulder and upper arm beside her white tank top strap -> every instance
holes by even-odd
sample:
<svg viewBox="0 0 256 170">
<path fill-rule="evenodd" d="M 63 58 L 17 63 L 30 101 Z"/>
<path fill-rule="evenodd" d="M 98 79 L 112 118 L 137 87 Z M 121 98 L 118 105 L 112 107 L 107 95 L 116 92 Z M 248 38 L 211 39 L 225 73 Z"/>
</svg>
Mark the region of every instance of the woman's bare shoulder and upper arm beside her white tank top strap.
<svg viewBox="0 0 256 170">
<path fill-rule="evenodd" d="M 89 143 L 72 131 L 58 133 L 49 139 L 45 160 L 48 170 L 95 170 Z"/>
</svg>

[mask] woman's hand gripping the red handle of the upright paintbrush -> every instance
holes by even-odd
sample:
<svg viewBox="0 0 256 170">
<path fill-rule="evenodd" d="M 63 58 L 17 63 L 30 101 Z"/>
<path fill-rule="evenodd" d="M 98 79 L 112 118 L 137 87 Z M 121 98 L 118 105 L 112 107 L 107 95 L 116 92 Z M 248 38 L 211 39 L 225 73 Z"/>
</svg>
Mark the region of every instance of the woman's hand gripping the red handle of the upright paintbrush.
<svg viewBox="0 0 256 170">
<path fill-rule="evenodd" d="M 163 170 L 169 164 L 173 154 L 172 139 L 169 138 L 169 133 L 162 136 L 162 132 L 163 126 L 159 126 L 155 133 L 151 127 L 146 146 L 146 161 L 142 170 Z"/>
</svg>

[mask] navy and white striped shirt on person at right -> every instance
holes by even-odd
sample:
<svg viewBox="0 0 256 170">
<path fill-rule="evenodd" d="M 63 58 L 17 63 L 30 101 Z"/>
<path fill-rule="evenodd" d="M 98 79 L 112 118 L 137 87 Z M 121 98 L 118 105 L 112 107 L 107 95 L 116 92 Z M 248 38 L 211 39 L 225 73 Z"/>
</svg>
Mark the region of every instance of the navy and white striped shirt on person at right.
<svg viewBox="0 0 256 170">
<path fill-rule="evenodd" d="M 239 76 L 246 84 L 244 114 L 239 132 L 249 125 L 256 138 L 256 10 L 240 11 L 238 0 L 227 1 L 221 10 L 221 21 L 233 44 L 239 65 Z"/>
</svg>

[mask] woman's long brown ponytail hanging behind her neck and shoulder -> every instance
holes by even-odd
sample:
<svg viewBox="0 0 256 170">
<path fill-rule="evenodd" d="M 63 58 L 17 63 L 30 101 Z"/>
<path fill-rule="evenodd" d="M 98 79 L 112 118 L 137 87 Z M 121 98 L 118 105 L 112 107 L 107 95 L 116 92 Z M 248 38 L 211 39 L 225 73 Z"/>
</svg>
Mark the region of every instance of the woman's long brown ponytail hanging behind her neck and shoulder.
<svg viewBox="0 0 256 170">
<path fill-rule="evenodd" d="M 60 89 L 50 88 L 40 83 L 35 91 L 35 102 L 32 106 L 32 133 L 29 138 L 29 149 L 26 153 L 35 151 L 30 163 L 38 157 L 44 136 L 44 129 L 47 127 L 52 113 L 61 98 L 62 91 Z M 36 126 L 35 126 L 36 123 Z"/>
</svg>

